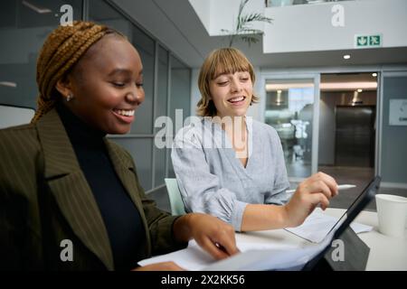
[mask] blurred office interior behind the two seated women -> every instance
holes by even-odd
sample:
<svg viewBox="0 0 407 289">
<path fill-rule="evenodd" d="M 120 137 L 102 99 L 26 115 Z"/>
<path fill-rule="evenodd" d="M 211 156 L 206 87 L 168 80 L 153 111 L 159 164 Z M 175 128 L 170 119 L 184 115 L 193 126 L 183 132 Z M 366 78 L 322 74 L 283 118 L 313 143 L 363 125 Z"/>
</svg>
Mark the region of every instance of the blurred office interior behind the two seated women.
<svg viewBox="0 0 407 289">
<path fill-rule="evenodd" d="M 174 172 L 170 150 L 154 145 L 161 129 L 155 120 L 175 121 L 175 109 L 184 119 L 195 114 L 199 67 L 210 51 L 229 44 L 223 31 L 233 30 L 240 3 L 2 1 L 0 126 L 29 119 L 24 108 L 35 108 L 38 51 L 60 23 L 61 6 L 71 5 L 73 19 L 108 24 L 140 53 L 146 100 L 131 132 L 109 137 L 128 149 L 144 189 L 168 210 L 164 178 Z M 233 46 L 255 67 L 260 103 L 249 115 L 278 131 L 292 187 L 317 171 L 355 183 L 332 202 L 344 208 L 380 174 L 382 192 L 407 196 L 407 2 L 250 0 L 244 12 L 273 19 L 255 23 L 264 32 L 258 42 L 236 37 Z M 6 114 L 9 107 L 21 110 Z"/>
</svg>

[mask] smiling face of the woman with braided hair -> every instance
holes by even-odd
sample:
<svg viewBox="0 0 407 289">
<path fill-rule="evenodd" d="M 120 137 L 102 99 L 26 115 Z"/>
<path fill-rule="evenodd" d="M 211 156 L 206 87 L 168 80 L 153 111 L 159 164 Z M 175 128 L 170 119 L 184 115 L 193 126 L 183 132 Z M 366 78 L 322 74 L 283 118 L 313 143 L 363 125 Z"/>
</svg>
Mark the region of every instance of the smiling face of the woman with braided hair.
<svg viewBox="0 0 407 289">
<path fill-rule="evenodd" d="M 114 34 L 92 45 L 64 81 L 73 95 L 64 104 L 107 134 L 128 133 L 145 98 L 140 56 L 130 42 Z M 65 97 L 66 93 L 62 92 Z"/>
</svg>

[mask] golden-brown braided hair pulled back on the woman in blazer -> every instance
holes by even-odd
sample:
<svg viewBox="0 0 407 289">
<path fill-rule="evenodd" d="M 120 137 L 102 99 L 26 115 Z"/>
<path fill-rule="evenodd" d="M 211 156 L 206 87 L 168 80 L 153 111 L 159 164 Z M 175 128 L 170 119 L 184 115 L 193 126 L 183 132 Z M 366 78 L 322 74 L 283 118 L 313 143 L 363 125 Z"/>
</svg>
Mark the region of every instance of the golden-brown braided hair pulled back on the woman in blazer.
<svg viewBox="0 0 407 289">
<path fill-rule="evenodd" d="M 105 25 L 84 21 L 75 21 L 69 26 L 59 26 L 48 35 L 37 61 L 36 79 L 40 94 L 32 123 L 38 121 L 55 106 L 59 96 L 55 89 L 57 81 L 66 77 L 92 44 L 111 33 L 126 38 Z"/>
</svg>

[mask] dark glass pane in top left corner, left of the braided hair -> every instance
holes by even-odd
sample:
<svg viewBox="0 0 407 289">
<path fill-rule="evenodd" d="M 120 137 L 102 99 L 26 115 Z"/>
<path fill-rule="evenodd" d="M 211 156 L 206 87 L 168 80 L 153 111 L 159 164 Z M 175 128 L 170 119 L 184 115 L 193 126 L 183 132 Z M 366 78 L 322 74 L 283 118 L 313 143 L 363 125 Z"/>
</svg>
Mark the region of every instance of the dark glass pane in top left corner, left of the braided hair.
<svg viewBox="0 0 407 289">
<path fill-rule="evenodd" d="M 60 24 L 62 5 L 72 20 L 82 14 L 81 0 L 4 0 L 0 9 L 0 104 L 36 108 L 35 70 L 43 42 Z"/>
</svg>

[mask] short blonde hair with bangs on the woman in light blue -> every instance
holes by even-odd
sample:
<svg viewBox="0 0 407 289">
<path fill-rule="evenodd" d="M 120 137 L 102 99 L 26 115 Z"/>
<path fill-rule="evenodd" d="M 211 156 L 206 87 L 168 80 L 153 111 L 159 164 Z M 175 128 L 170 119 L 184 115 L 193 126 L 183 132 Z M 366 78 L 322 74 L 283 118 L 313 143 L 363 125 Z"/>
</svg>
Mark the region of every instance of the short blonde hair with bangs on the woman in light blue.
<svg viewBox="0 0 407 289">
<path fill-rule="evenodd" d="M 216 107 L 211 99 L 209 83 L 223 73 L 238 71 L 248 71 L 251 75 L 251 82 L 254 84 L 255 75 L 251 62 L 244 54 L 235 48 L 221 48 L 212 51 L 204 60 L 204 64 L 199 71 L 198 87 L 201 92 L 201 99 L 198 101 L 196 113 L 201 117 L 213 117 L 216 115 Z M 259 101 L 254 94 L 251 104 Z"/>
</svg>

